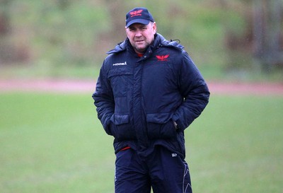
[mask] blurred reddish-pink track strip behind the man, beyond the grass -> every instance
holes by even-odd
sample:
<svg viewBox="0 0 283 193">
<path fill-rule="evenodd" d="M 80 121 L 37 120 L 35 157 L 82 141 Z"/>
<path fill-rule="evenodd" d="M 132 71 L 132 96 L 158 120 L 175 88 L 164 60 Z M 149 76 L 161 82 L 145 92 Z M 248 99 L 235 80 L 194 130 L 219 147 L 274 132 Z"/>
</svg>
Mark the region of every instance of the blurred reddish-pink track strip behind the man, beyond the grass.
<svg viewBox="0 0 283 193">
<path fill-rule="evenodd" d="M 208 82 L 212 95 L 283 95 L 283 83 L 225 83 Z M 96 80 L 0 80 L 0 93 L 50 92 L 93 93 Z"/>
</svg>

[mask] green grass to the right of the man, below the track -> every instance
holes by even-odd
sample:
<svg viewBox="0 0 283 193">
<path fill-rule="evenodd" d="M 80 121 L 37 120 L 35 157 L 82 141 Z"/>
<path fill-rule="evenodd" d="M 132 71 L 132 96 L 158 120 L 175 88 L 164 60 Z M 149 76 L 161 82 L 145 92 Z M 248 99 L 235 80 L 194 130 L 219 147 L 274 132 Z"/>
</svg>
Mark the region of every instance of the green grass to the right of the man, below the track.
<svg viewBox="0 0 283 193">
<path fill-rule="evenodd" d="M 212 99 L 187 131 L 195 192 L 281 192 L 283 98 Z"/>
</svg>

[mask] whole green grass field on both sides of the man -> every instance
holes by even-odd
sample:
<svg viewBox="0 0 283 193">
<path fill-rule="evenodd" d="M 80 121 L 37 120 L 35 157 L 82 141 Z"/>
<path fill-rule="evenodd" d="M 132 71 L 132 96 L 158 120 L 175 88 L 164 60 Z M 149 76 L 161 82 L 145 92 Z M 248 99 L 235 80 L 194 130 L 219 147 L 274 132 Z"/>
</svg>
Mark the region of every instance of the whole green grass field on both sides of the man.
<svg viewBox="0 0 283 193">
<path fill-rule="evenodd" d="M 194 192 L 282 192 L 282 115 L 282 97 L 212 96 L 185 131 Z M 114 161 L 91 93 L 0 94 L 1 192 L 114 192 Z"/>
</svg>

